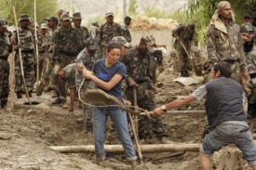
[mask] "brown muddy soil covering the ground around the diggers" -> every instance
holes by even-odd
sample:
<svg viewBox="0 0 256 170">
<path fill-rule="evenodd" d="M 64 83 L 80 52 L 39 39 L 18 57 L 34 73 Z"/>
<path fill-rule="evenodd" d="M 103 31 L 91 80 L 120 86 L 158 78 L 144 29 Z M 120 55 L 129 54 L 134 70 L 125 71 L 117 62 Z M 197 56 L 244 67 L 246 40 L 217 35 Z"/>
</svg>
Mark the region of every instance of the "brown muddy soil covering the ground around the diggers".
<svg viewBox="0 0 256 170">
<path fill-rule="evenodd" d="M 168 60 L 168 59 L 167 59 Z M 172 80 L 179 77 L 179 73 L 172 68 L 158 77 L 159 93 L 155 95 L 157 104 L 161 105 L 173 99 L 190 94 L 197 85 L 184 86 Z M 33 94 L 35 97 L 35 94 Z M 40 98 L 50 98 L 50 93 Z M 25 97 L 23 97 L 25 98 Z M 55 98 L 50 98 L 54 100 Z M 49 106 L 49 109 L 25 109 L 15 111 L 0 109 L 0 169 L 9 170 L 119 170 L 130 169 L 124 161 L 124 155 L 108 154 L 107 161 L 98 165 L 94 161 L 93 153 L 60 153 L 49 146 L 92 145 L 93 137 L 85 133 L 85 125 L 77 124 L 75 119 L 82 113 L 75 102 L 74 115 L 58 105 Z M 204 110 L 203 101 L 194 101 L 179 110 Z M 204 114 L 175 114 L 163 115 L 162 121 L 166 124 L 168 138 L 175 143 L 200 143 L 205 124 Z M 253 124 L 251 125 L 252 127 Z M 254 127 L 255 129 L 255 127 Z M 115 140 L 115 141 L 112 141 Z M 116 143 L 116 137 L 106 140 Z M 159 144 L 154 135 L 148 143 Z M 118 142 L 117 142 L 118 143 Z M 186 151 L 178 156 L 171 157 L 173 152 L 142 153 L 145 170 L 197 170 L 200 169 L 199 152 Z M 140 163 L 138 161 L 138 163 Z M 247 170 L 247 163 L 242 159 L 241 152 L 235 146 L 225 147 L 215 152 L 212 157 L 212 169 L 217 170 Z"/>
</svg>

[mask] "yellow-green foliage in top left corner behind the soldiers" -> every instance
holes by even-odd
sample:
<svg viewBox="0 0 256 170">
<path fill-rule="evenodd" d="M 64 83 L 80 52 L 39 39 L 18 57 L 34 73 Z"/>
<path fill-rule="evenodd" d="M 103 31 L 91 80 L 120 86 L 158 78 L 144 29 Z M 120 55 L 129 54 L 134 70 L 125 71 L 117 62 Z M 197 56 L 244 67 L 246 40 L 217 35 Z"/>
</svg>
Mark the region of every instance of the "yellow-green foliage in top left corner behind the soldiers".
<svg viewBox="0 0 256 170">
<path fill-rule="evenodd" d="M 8 20 L 9 25 L 15 25 L 12 7 L 15 7 L 16 17 L 19 23 L 20 14 L 28 14 L 34 20 L 33 0 L 0 0 L 0 17 Z M 57 16 L 57 0 L 36 0 L 36 21 L 38 24 L 46 22 L 44 20 L 50 15 Z"/>
</svg>

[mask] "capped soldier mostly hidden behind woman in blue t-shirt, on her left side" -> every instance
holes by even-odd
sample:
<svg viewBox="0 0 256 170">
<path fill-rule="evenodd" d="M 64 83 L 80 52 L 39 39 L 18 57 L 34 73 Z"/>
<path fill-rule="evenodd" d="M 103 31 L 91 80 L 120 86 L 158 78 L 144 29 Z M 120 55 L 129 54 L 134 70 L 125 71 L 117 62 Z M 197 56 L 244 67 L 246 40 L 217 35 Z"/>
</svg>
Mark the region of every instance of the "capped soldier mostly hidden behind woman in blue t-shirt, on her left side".
<svg viewBox="0 0 256 170">
<path fill-rule="evenodd" d="M 77 56 L 75 62 L 76 63 L 82 63 L 88 71 L 92 71 L 93 65 L 97 59 L 100 59 L 100 56 L 97 56 L 96 50 L 99 49 L 98 42 L 95 38 L 89 37 L 87 40 L 86 47 L 79 53 Z M 83 75 L 82 72 L 76 72 L 75 79 L 76 79 L 76 88 L 79 89 L 82 81 L 83 81 Z M 84 98 L 84 92 L 86 92 L 88 89 L 94 89 L 96 86 L 95 84 L 90 81 L 89 79 L 85 78 L 84 84 L 81 86 L 80 93 L 81 98 Z M 70 107 L 70 111 L 73 111 L 73 107 Z M 76 119 L 76 122 L 78 124 L 83 124 L 86 121 L 86 132 L 92 132 L 92 122 L 91 122 L 91 112 L 92 108 L 82 104 L 82 111 L 83 111 L 83 117 L 80 119 Z"/>
</svg>

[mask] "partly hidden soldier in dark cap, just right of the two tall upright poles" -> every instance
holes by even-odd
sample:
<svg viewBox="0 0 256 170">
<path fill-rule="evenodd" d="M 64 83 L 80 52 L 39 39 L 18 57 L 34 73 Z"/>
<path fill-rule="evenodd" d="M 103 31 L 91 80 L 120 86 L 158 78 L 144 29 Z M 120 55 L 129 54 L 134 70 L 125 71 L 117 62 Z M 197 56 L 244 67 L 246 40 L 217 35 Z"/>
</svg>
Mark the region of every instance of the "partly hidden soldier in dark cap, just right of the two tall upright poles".
<svg viewBox="0 0 256 170">
<path fill-rule="evenodd" d="M 48 31 L 47 57 L 45 58 L 46 72 L 44 72 L 42 75 L 41 84 L 36 86 L 36 96 L 41 96 L 44 88 L 45 88 L 45 92 L 49 90 L 55 90 L 57 88 L 57 85 L 55 83 L 56 78 L 52 76 L 50 77 L 51 75 L 50 73 L 52 72 L 52 69 L 54 66 L 53 60 L 52 60 L 52 57 L 53 57 L 52 38 L 53 38 L 53 33 L 58 29 L 58 18 L 55 16 L 49 16 L 45 20 L 47 20 L 47 26 L 48 28 L 50 28 L 50 30 Z"/>
</svg>

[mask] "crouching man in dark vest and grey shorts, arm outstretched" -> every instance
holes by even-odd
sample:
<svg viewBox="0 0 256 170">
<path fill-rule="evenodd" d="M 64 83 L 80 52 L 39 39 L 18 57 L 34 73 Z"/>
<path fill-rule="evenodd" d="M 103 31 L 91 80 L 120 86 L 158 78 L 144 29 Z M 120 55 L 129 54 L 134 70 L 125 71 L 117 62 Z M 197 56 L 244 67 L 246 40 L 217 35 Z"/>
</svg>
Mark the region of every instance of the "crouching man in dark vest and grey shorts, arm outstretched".
<svg viewBox="0 0 256 170">
<path fill-rule="evenodd" d="M 229 144 L 236 144 L 249 166 L 256 170 L 256 146 L 243 109 L 243 88 L 230 78 L 231 74 L 229 63 L 217 62 L 211 71 L 211 81 L 199 86 L 185 98 L 176 99 L 156 108 L 153 113 L 154 116 L 160 116 L 165 111 L 180 108 L 195 99 L 207 97 L 205 107 L 211 131 L 200 146 L 203 170 L 210 170 L 209 157 L 213 152 Z"/>
</svg>

